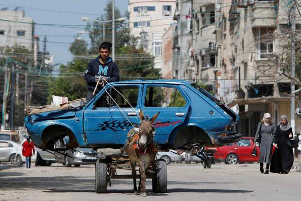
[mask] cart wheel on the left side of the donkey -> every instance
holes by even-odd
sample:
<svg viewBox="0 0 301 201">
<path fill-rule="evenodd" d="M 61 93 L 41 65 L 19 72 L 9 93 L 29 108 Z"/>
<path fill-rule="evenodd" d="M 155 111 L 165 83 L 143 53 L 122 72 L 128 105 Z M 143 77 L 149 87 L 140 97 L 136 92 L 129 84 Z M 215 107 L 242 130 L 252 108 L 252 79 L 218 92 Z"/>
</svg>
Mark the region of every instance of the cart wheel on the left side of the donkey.
<svg viewBox="0 0 301 201">
<path fill-rule="evenodd" d="M 97 160 L 95 165 L 95 192 L 107 192 L 107 163 Z"/>
</svg>

